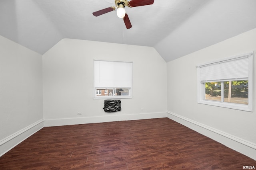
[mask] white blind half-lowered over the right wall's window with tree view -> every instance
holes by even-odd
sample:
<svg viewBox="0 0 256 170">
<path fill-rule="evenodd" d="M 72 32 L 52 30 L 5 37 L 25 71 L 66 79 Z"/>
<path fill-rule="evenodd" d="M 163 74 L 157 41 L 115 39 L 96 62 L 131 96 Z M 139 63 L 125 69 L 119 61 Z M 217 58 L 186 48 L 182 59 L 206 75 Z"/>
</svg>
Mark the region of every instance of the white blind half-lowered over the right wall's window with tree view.
<svg viewBox="0 0 256 170">
<path fill-rule="evenodd" d="M 248 80 L 249 54 L 200 67 L 200 82 Z"/>
</svg>

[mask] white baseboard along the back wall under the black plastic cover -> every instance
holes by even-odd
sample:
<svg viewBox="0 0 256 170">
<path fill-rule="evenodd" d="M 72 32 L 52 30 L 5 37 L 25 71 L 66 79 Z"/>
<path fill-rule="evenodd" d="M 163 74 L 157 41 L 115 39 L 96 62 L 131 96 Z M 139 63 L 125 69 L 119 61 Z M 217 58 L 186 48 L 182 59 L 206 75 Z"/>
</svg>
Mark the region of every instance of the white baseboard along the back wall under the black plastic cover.
<svg viewBox="0 0 256 170">
<path fill-rule="evenodd" d="M 137 113 L 129 115 L 111 115 L 95 117 L 75 117 L 66 119 L 46 119 L 44 120 L 44 126 L 63 126 L 63 125 L 78 125 L 86 123 L 102 123 L 111 121 L 126 121 L 126 120 L 139 120 L 139 119 L 153 119 L 167 117 L 166 112 L 159 113 Z"/>
</svg>

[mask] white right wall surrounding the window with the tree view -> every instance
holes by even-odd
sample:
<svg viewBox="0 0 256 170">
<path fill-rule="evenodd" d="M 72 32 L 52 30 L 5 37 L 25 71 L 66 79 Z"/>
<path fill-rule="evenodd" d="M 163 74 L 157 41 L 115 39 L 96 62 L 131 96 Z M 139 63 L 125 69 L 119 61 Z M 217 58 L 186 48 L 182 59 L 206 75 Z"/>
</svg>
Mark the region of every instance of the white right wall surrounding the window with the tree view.
<svg viewBox="0 0 256 170">
<path fill-rule="evenodd" d="M 208 106 L 197 103 L 197 70 L 196 66 L 254 51 L 254 67 L 256 66 L 256 29 L 242 33 L 200 51 L 196 51 L 167 63 L 168 84 L 168 117 L 180 121 L 188 127 L 210 135 L 216 132 L 233 141 L 246 146 L 231 144 L 230 140 L 217 141 L 230 145 L 234 149 L 256 159 L 256 69 L 254 68 L 254 111 L 240 111 L 223 107 Z M 196 126 L 195 126 L 196 125 Z M 203 129 L 198 128 L 203 127 Z M 210 131 L 205 131 L 208 129 Z M 226 140 L 226 141 L 225 141 Z M 241 146 L 240 146 L 241 147 Z"/>
</svg>

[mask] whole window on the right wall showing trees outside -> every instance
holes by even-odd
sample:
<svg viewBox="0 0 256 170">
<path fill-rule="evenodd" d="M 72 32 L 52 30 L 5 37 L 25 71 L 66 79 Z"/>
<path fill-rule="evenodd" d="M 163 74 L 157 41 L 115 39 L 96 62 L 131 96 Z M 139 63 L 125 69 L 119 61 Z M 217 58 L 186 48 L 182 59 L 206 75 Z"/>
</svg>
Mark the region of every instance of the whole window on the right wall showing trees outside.
<svg viewBox="0 0 256 170">
<path fill-rule="evenodd" d="M 197 66 L 198 103 L 252 111 L 253 53 Z"/>
</svg>

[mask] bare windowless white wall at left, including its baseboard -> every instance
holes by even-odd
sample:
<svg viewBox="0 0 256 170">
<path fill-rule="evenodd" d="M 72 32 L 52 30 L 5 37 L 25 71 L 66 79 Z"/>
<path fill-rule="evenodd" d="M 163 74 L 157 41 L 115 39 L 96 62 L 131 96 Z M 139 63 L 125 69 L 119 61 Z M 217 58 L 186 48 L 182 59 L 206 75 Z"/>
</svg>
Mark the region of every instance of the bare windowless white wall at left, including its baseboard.
<svg viewBox="0 0 256 170">
<path fill-rule="evenodd" d="M 42 55 L 0 36 L 0 156 L 42 122 Z"/>
</svg>

